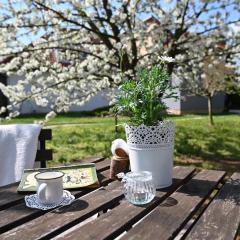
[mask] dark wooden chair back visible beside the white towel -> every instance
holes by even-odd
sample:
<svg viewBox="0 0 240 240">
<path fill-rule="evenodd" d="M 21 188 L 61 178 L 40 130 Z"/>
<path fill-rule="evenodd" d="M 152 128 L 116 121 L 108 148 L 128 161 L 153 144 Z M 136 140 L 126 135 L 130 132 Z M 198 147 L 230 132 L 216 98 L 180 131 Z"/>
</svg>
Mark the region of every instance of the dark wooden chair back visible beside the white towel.
<svg viewBox="0 0 240 240">
<path fill-rule="evenodd" d="M 46 161 L 53 159 L 52 149 L 46 149 L 46 140 L 52 139 L 52 129 L 42 129 L 39 134 L 39 144 L 36 155 L 36 162 L 40 162 L 40 167 L 46 167 Z"/>
</svg>

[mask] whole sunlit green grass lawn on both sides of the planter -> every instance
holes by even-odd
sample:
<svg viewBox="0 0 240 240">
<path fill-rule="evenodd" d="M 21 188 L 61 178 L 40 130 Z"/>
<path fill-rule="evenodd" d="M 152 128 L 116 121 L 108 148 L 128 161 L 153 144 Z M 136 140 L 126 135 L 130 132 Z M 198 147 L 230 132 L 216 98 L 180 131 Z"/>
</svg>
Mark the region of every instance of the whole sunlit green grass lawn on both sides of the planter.
<svg viewBox="0 0 240 240">
<path fill-rule="evenodd" d="M 176 164 L 239 171 L 240 116 L 215 116 L 214 127 L 209 126 L 206 115 L 169 118 L 176 122 Z M 43 116 L 17 118 L 8 123 L 32 123 L 36 119 L 41 120 Z M 111 156 L 111 141 L 125 138 L 122 126 L 125 120 L 126 118 L 120 118 L 118 134 L 115 134 L 113 117 L 86 117 L 76 113 L 60 115 L 51 120 L 47 125 L 53 129 L 53 140 L 48 142 L 48 147 L 54 150 L 52 164 L 93 155 Z"/>
</svg>

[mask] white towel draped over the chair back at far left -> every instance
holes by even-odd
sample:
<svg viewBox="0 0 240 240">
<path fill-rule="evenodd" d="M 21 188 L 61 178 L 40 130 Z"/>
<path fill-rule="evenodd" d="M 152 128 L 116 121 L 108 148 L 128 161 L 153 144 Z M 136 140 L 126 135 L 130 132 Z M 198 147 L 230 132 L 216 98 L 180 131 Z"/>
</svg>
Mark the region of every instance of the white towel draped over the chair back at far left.
<svg viewBox="0 0 240 240">
<path fill-rule="evenodd" d="M 41 125 L 0 125 L 0 186 L 21 179 L 32 168 L 37 153 Z"/>
</svg>

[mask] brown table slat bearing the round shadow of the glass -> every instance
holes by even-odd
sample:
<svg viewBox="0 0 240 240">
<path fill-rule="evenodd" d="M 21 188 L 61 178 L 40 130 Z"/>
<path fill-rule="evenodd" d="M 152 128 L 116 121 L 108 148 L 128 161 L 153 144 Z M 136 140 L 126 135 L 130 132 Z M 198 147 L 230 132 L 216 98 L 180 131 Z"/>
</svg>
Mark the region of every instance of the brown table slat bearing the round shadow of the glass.
<svg viewBox="0 0 240 240">
<path fill-rule="evenodd" d="M 168 197 L 122 239 L 172 239 L 225 176 L 203 170 Z"/>
</svg>

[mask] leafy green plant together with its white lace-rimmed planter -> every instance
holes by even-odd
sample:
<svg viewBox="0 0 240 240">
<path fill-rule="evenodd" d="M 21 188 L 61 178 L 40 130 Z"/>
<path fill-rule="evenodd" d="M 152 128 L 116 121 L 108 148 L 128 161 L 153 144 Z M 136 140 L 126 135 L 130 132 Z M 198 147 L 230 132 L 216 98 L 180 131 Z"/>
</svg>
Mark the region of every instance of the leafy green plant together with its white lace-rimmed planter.
<svg viewBox="0 0 240 240">
<path fill-rule="evenodd" d="M 131 171 L 150 171 L 157 188 L 172 184 L 175 124 L 164 121 L 164 99 L 176 98 L 163 64 L 142 69 L 119 88 L 116 109 L 129 116 L 125 125 Z"/>
</svg>

